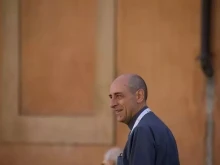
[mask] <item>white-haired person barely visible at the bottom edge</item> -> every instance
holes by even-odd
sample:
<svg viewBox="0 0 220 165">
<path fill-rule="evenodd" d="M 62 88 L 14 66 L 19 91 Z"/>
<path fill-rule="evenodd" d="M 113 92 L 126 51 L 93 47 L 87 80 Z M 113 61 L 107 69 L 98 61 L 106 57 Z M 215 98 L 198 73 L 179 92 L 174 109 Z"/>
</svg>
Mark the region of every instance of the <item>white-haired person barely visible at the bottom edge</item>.
<svg viewBox="0 0 220 165">
<path fill-rule="evenodd" d="M 117 158 L 122 150 L 118 147 L 110 148 L 104 155 L 102 165 L 117 165 Z"/>
</svg>

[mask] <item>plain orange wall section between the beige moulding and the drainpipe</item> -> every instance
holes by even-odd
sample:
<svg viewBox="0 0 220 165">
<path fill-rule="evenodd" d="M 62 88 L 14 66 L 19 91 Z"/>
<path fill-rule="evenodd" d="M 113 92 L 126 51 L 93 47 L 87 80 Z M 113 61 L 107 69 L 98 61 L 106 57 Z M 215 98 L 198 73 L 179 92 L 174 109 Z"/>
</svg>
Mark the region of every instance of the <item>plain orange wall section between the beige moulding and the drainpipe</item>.
<svg viewBox="0 0 220 165">
<path fill-rule="evenodd" d="M 141 74 L 148 104 L 172 129 L 181 164 L 201 165 L 205 152 L 205 81 L 200 1 L 122 0 L 118 5 L 118 74 Z"/>
</svg>

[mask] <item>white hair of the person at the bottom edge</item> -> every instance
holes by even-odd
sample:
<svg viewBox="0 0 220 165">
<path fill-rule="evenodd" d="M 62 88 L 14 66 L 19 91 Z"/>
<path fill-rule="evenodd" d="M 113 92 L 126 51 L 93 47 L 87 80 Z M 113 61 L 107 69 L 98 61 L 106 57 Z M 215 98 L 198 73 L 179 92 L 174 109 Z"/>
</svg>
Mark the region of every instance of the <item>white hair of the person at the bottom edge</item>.
<svg viewBox="0 0 220 165">
<path fill-rule="evenodd" d="M 114 161 L 115 164 L 117 164 L 118 156 L 122 153 L 122 150 L 118 147 L 113 147 L 110 150 L 108 150 L 104 155 L 105 161 Z"/>
</svg>

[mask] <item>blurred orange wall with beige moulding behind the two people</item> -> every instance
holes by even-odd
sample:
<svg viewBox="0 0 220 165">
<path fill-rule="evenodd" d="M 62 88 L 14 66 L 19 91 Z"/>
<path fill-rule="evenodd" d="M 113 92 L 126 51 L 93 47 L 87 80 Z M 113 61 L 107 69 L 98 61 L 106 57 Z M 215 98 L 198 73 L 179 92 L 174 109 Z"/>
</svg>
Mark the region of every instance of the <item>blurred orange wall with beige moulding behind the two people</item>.
<svg viewBox="0 0 220 165">
<path fill-rule="evenodd" d="M 129 131 L 114 120 L 109 85 L 137 73 L 181 165 L 205 165 L 207 155 L 220 165 L 219 8 L 213 0 L 207 98 L 201 0 L 0 0 L 0 164 L 100 164 Z"/>
</svg>

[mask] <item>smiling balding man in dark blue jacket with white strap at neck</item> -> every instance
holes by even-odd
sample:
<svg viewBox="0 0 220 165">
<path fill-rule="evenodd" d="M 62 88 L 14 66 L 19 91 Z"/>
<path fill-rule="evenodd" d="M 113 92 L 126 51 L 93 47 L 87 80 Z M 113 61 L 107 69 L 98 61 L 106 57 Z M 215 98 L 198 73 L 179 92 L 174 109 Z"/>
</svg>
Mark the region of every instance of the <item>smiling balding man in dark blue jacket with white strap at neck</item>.
<svg viewBox="0 0 220 165">
<path fill-rule="evenodd" d="M 147 86 L 136 74 L 121 75 L 111 84 L 111 108 L 131 130 L 118 165 L 179 165 L 175 138 L 147 107 L 147 96 Z"/>
</svg>

